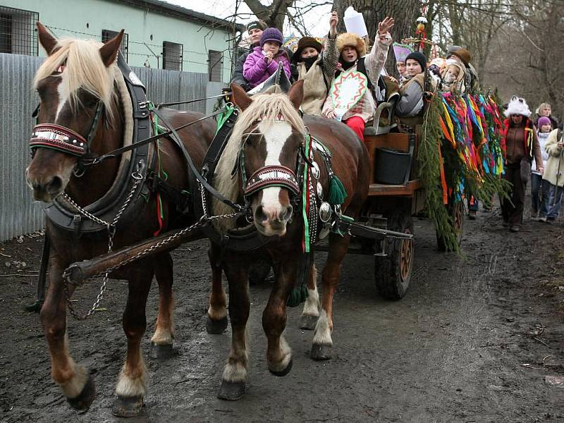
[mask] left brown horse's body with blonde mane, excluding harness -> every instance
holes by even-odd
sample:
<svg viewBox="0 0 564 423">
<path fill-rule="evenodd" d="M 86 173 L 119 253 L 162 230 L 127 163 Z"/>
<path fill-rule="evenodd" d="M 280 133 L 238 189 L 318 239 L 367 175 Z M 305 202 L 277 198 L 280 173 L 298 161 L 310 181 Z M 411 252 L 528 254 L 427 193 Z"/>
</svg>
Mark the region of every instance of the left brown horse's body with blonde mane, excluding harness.
<svg viewBox="0 0 564 423">
<path fill-rule="evenodd" d="M 106 44 L 79 39 L 55 39 L 37 24 L 39 41 L 49 55 L 37 71 L 35 87 L 41 100 L 38 123 L 52 123 L 86 138 L 92 127 L 90 151 L 104 154 L 124 142 L 125 111 L 132 105 L 118 70 L 116 54 L 123 30 Z M 121 89 L 120 89 L 121 87 Z M 97 104 L 104 104 L 99 121 Z M 129 102 L 129 104 L 128 104 Z M 173 126 L 195 121 L 202 115 L 192 112 L 163 110 L 163 116 Z M 197 166 L 202 163 L 207 145 L 212 140 L 215 124 L 205 120 L 178 133 Z M 154 152 L 154 150 L 153 150 Z M 73 169 L 78 158 L 49 148 L 35 149 L 27 168 L 27 183 L 35 200 L 52 202 L 66 192 L 79 206 L 92 204 L 110 189 L 118 173 L 120 161 L 109 159 L 89 168 L 81 177 Z M 178 190 L 188 186 L 188 171 L 178 147 L 168 139 L 160 141 L 160 166 L 168 173 L 168 183 Z M 114 245 L 131 245 L 151 238 L 159 228 L 157 222 L 157 195 L 149 192 L 147 202 L 136 209 L 135 216 L 124 214 L 116 225 Z M 125 201 L 125 199 L 123 199 Z M 162 201 L 163 231 L 171 228 L 178 213 L 174 204 Z M 87 409 L 95 396 L 94 381 L 87 369 L 73 361 L 68 353 L 66 335 L 66 283 L 62 273 L 69 264 L 90 259 L 107 252 L 106 237 L 87 235 L 78 240 L 70 231 L 47 221 L 47 235 L 51 239 L 49 255 L 49 290 L 41 309 L 41 321 L 49 343 L 51 374 L 68 402 L 78 410 Z M 102 238 L 102 239 L 99 239 Z M 114 414 L 135 415 L 140 412 L 146 392 L 146 370 L 141 353 L 141 339 L 145 333 L 145 304 L 152 278 L 159 283 L 159 314 L 152 343 L 171 345 L 173 342 L 173 300 L 171 287 L 173 268 L 167 253 L 147 257 L 133 265 L 125 266 L 111 274 L 112 278 L 128 280 L 128 300 L 123 313 L 123 330 L 127 336 L 127 356 L 116 385 Z M 68 295 L 73 287 L 68 286 Z"/>
</svg>

